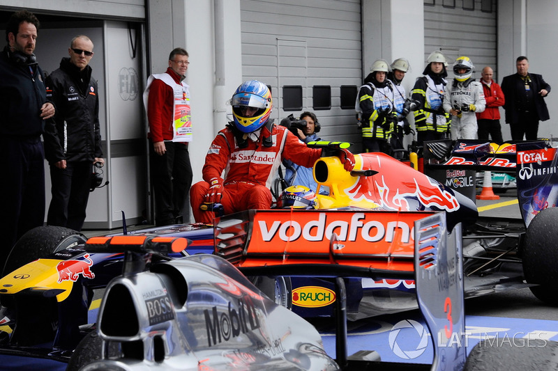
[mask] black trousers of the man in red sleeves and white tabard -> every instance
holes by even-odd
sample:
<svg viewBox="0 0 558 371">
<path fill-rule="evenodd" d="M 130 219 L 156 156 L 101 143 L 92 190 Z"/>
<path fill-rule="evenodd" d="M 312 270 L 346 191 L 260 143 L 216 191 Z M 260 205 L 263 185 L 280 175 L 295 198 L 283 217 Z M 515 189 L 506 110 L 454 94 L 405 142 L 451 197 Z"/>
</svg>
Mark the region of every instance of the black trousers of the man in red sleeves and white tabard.
<svg viewBox="0 0 558 371">
<path fill-rule="evenodd" d="M 157 226 L 174 224 L 182 217 L 190 220 L 190 187 L 192 166 L 188 146 L 184 143 L 165 141 L 167 152 L 159 156 L 150 141 L 151 184 L 155 198 L 155 223 Z"/>
</svg>

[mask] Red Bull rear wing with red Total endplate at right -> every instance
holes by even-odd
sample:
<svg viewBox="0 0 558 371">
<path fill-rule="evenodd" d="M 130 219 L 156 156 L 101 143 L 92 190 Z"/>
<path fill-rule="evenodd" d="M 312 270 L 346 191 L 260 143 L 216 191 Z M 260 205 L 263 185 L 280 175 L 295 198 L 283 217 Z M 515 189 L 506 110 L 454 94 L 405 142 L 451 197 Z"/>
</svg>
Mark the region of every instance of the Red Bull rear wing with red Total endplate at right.
<svg viewBox="0 0 558 371">
<path fill-rule="evenodd" d="M 558 205 L 558 151 L 552 139 L 497 144 L 474 140 L 425 142 L 425 168 L 512 173 L 525 225 Z"/>
</svg>

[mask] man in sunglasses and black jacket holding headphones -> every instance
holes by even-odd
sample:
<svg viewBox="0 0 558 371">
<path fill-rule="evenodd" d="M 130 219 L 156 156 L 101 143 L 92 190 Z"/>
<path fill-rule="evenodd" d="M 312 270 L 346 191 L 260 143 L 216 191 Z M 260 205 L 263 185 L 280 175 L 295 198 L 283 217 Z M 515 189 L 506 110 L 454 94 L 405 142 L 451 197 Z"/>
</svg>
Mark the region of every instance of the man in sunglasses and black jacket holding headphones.
<svg viewBox="0 0 558 371">
<path fill-rule="evenodd" d="M 104 164 L 100 144 L 99 95 L 89 61 L 93 42 L 73 38 L 69 58 L 47 77 L 47 97 L 56 104 L 54 122 L 45 128 L 52 200 L 47 224 L 81 230 L 85 220 L 93 164 Z"/>
</svg>

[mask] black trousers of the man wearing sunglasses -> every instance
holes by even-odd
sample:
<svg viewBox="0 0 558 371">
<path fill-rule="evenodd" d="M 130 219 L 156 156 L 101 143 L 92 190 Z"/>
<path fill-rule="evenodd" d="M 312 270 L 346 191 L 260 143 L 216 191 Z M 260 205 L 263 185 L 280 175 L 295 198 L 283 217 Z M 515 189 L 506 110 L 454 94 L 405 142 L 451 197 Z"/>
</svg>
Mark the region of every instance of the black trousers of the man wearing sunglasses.
<svg viewBox="0 0 558 371">
<path fill-rule="evenodd" d="M 49 226 L 82 230 L 92 173 L 93 161 L 67 161 L 66 168 L 50 166 L 52 200 L 47 214 Z"/>
</svg>

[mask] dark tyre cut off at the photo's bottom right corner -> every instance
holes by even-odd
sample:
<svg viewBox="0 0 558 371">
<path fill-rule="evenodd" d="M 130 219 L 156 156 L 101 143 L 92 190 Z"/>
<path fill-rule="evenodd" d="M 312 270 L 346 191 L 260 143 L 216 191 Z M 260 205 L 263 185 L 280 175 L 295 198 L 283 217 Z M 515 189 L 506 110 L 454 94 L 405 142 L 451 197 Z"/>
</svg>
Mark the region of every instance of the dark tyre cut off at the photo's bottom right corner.
<svg viewBox="0 0 558 371">
<path fill-rule="evenodd" d="M 558 342 L 542 339 L 481 340 L 467 356 L 463 371 L 557 370 Z"/>
</svg>

